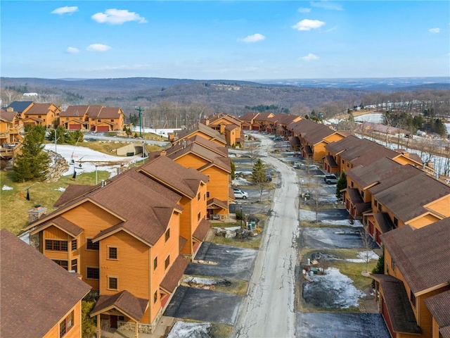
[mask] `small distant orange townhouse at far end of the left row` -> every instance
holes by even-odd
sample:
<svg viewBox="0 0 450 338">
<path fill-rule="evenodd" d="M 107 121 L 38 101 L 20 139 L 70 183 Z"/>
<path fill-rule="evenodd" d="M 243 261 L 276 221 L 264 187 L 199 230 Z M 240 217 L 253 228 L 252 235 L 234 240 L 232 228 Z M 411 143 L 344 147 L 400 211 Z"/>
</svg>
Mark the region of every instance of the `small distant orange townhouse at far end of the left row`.
<svg viewBox="0 0 450 338">
<path fill-rule="evenodd" d="M 242 123 L 229 114 L 219 113 L 205 118 L 204 124 L 225 135 L 228 146 L 242 146 L 244 142 Z"/>
</svg>

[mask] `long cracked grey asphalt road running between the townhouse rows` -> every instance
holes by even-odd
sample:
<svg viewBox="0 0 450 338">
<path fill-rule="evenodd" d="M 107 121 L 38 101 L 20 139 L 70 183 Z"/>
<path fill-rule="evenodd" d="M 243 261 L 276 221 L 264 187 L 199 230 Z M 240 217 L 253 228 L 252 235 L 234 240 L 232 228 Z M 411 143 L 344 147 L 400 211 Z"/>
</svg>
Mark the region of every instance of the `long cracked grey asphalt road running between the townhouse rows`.
<svg viewBox="0 0 450 338">
<path fill-rule="evenodd" d="M 274 212 L 267 222 L 248 296 L 240 308 L 233 335 L 242 338 L 294 337 L 298 179 L 292 166 L 266 157 L 274 142 L 261 134 L 257 137 L 261 139 L 259 158 L 270 163 L 283 180 L 274 192 Z"/>
</svg>

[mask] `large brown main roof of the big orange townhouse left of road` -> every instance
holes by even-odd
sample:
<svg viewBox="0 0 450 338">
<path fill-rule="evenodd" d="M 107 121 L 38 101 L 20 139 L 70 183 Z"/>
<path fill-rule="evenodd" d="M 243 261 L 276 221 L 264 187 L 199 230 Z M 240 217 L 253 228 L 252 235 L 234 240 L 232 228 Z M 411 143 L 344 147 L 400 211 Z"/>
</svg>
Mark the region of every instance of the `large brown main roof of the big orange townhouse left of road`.
<svg viewBox="0 0 450 338">
<path fill-rule="evenodd" d="M 79 193 L 75 196 L 69 190 L 68 198 L 62 198 L 65 204 L 28 227 L 44 225 L 59 215 L 63 217 L 63 213 L 74 206 L 92 203 L 117 218 L 115 225 L 101 231 L 95 239 L 124 230 L 153 245 L 165 233 L 174 211 L 183 209 L 177 204 L 181 194 L 138 173 L 136 168 L 113 177 L 104 187 L 98 185 L 89 190 L 82 187 Z M 61 203 L 61 199 L 58 202 Z"/>
</svg>

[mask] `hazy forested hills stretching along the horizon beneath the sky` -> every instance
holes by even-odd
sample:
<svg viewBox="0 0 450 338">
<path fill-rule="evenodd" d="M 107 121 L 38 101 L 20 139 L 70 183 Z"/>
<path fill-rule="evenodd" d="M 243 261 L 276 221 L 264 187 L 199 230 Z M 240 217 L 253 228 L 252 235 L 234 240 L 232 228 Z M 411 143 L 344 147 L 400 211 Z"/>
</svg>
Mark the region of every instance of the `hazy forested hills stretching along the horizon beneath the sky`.
<svg viewBox="0 0 450 338">
<path fill-rule="evenodd" d="M 445 78 L 443 84 L 409 82 L 411 85 L 438 86 L 450 88 Z M 378 79 L 379 80 L 379 79 Z M 439 80 L 439 79 L 438 79 Z M 277 106 L 280 111 L 287 108 L 291 113 L 304 114 L 311 109 L 338 113 L 346 108 L 361 104 L 366 95 L 378 92 L 403 91 L 409 87 L 397 87 L 386 82 L 381 88 L 370 80 L 364 85 L 349 85 L 349 80 L 296 80 L 295 83 L 258 83 L 235 80 L 188 80 L 155 77 L 129 77 L 115 79 L 65 79 L 51 80 L 39 78 L 1 77 L 2 106 L 9 101 L 24 100 L 24 93 L 37 93 L 34 101 L 54 102 L 59 106 L 99 104 L 119 106 L 125 113 L 134 112 L 136 106 L 150 107 L 162 102 L 172 102 L 180 106 L 200 104 L 213 111 L 240 115 L 245 106 Z M 373 80 L 375 81 L 375 80 Z M 314 85 L 312 84 L 314 82 Z M 379 81 L 378 81 L 379 82 Z M 378 83 L 377 82 L 377 83 Z M 359 83 L 359 82 L 358 82 Z M 404 82 L 401 82 L 404 83 Z M 311 87 L 306 87 L 310 84 Z M 340 87 L 341 86 L 341 87 Z M 389 90 L 388 90 L 389 89 Z M 419 88 L 417 88 L 419 89 Z M 420 89 L 423 89 L 420 88 Z M 25 99 L 31 99 L 25 97 Z M 328 115 L 328 114 L 327 114 Z"/>
</svg>

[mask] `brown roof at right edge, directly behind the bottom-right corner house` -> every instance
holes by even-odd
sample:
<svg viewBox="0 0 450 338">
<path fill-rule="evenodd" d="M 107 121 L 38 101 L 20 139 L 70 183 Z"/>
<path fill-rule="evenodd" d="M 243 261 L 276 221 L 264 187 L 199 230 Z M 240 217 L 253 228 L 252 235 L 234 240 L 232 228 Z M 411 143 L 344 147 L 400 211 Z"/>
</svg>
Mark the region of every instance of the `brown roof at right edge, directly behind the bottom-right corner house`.
<svg viewBox="0 0 450 338">
<path fill-rule="evenodd" d="M 408 177 L 408 171 L 417 175 Z M 397 183 L 395 184 L 396 180 Z M 385 189 L 383 189 L 385 188 Z M 444 196 L 450 196 L 450 187 L 435 180 L 412 165 L 403 165 L 398 175 L 387 177 L 380 184 L 369 189 L 378 203 L 392 211 L 394 215 L 407 223 L 409 220 L 429 211 L 427 204 Z"/>
</svg>

